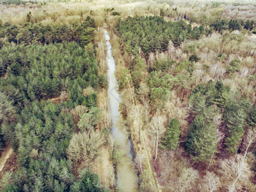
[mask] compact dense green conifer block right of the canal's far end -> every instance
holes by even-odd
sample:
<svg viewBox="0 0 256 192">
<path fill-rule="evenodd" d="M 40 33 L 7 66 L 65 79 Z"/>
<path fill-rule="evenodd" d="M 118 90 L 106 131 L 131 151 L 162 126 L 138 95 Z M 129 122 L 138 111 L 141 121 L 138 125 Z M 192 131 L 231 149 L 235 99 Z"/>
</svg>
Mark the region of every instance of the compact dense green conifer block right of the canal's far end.
<svg viewBox="0 0 256 192">
<path fill-rule="evenodd" d="M 145 55 L 165 51 L 170 40 L 178 46 L 185 39 L 198 39 L 204 33 L 203 26 L 192 29 L 183 20 L 167 22 L 161 17 L 128 17 L 118 20 L 116 28 L 124 47 L 141 47 Z"/>
</svg>

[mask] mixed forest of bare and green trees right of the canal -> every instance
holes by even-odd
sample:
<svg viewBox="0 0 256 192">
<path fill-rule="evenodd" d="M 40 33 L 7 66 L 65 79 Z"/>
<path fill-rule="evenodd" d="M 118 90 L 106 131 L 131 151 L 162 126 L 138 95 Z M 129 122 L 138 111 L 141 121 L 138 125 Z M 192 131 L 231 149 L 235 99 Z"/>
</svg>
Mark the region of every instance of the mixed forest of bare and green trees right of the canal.
<svg viewBox="0 0 256 192">
<path fill-rule="evenodd" d="M 247 53 L 242 47 L 242 41 L 248 41 L 246 35 L 253 29 L 253 20 L 219 18 L 213 18 L 208 25 L 192 27 L 191 21 L 186 20 L 166 22 L 161 12 L 160 17 L 117 20 L 114 37 L 119 39 L 120 53 L 126 61 L 120 67 L 119 87 L 126 100 L 130 87 L 134 87 L 136 104 L 127 101 L 126 113 L 131 116 L 130 126 L 141 126 L 141 130 L 134 131 L 138 147 L 138 132 L 145 131 L 149 136 L 149 148 L 155 151 L 153 169 L 163 191 L 194 191 L 194 182 L 202 187 L 207 179 L 216 182 L 215 191 L 226 191 L 221 178 L 228 183 L 228 191 L 254 190 L 254 184 L 245 184 L 245 178 L 240 178 L 246 172 L 250 181 L 255 171 L 253 164 L 251 168 L 243 164 L 247 159 L 253 162 L 254 157 L 246 156 L 255 146 L 255 47 Z M 239 48 L 233 49 L 235 44 Z M 249 66 L 245 62 L 248 58 Z M 212 62 L 218 64 L 214 67 Z M 235 84 L 238 80 L 232 82 L 237 76 L 242 78 L 243 87 Z M 138 120 L 133 120 L 133 113 L 139 115 Z M 179 155 L 183 162 L 189 155 L 190 163 L 198 170 L 189 170 L 194 180 L 187 186 L 173 186 L 181 182 L 173 175 L 180 178 L 185 174 L 180 170 L 184 165 L 172 160 Z M 175 168 L 169 160 L 177 163 L 178 172 L 172 172 Z M 173 168 L 166 170 L 166 163 Z M 200 178 L 202 172 L 206 172 L 204 178 Z M 235 175 L 226 178 L 224 172 Z M 140 174 L 142 183 L 148 183 L 148 173 L 140 170 Z M 140 186 L 142 191 L 150 190 L 146 184 Z"/>
</svg>

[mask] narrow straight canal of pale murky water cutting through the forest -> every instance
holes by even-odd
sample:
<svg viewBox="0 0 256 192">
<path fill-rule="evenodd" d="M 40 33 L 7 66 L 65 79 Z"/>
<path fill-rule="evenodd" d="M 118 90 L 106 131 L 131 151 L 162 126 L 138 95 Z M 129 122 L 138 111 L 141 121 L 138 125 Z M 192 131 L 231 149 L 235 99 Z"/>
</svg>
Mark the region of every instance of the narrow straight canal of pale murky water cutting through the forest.
<svg viewBox="0 0 256 192">
<path fill-rule="evenodd" d="M 133 144 L 128 139 L 128 135 L 122 126 L 122 118 L 119 111 L 121 98 L 117 93 L 117 81 L 114 76 L 115 62 L 112 56 L 111 44 L 109 42 L 108 31 L 105 30 L 107 45 L 107 64 L 108 64 L 108 99 L 111 114 L 111 133 L 115 141 L 120 145 L 120 150 L 124 156 L 117 163 L 117 187 L 123 192 L 138 191 L 138 177 L 133 169 Z"/>
</svg>

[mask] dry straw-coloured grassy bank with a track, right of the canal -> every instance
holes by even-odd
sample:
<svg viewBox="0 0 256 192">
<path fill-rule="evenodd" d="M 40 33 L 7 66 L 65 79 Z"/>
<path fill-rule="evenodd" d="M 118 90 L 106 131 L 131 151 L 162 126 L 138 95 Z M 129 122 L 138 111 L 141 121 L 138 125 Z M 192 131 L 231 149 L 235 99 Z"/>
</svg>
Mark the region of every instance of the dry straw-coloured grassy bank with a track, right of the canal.
<svg viewBox="0 0 256 192">
<path fill-rule="evenodd" d="M 114 26 L 114 25 L 113 25 Z M 151 141 L 145 136 L 145 109 L 134 96 L 134 88 L 131 84 L 130 73 L 126 69 L 130 59 L 123 56 L 120 50 L 120 41 L 113 29 L 110 29 L 112 55 L 116 62 L 116 78 L 119 81 L 126 75 L 126 88 L 120 90 L 125 106 L 126 126 L 129 127 L 133 147 L 136 152 L 136 170 L 139 173 L 139 190 L 161 191 L 157 183 L 155 172 L 151 166 L 151 153 L 148 151 Z M 126 73 L 125 73 L 126 72 Z M 148 114 L 149 115 L 149 114 Z"/>
</svg>

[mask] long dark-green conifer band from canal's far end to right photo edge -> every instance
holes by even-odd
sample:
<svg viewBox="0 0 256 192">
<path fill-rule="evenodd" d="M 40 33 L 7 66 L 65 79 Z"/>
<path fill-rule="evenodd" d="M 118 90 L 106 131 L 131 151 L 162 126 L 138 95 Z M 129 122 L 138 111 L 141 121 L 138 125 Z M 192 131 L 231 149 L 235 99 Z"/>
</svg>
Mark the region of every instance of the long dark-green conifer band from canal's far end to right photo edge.
<svg viewBox="0 0 256 192">
<path fill-rule="evenodd" d="M 254 29 L 253 20 L 214 20 L 209 26 L 192 27 L 184 20 L 166 21 L 163 17 L 128 17 L 117 20 L 116 32 L 120 36 L 123 50 L 130 55 L 138 56 L 139 48 L 145 53 L 167 50 L 169 41 L 179 46 L 186 39 L 199 39 L 202 35 L 214 31 Z"/>
</svg>

